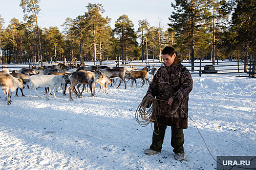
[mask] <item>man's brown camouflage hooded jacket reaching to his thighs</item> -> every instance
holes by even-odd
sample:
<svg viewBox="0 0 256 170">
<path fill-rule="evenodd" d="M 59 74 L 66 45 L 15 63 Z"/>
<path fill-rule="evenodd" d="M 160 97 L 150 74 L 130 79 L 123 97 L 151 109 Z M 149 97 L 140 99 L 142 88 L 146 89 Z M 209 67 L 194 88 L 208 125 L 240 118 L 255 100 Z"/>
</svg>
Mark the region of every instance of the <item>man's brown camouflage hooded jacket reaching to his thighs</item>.
<svg viewBox="0 0 256 170">
<path fill-rule="evenodd" d="M 189 70 L 181 62 L 181 54 L 178 53 L 171 66 L 159 68 L 149 85 L 146 96 L 151 94 L 156 99 L 167 101 L 157 101 L 160 108 L 157 120 L 159 124 L 186 129 L 188 127 L 189 93 L 192 91 L 193 80 Z M 173 114 L 168 104 L 171 97 L 180 101 L 180 105 L 177 106 L 179 108 Z"/>
</svg>

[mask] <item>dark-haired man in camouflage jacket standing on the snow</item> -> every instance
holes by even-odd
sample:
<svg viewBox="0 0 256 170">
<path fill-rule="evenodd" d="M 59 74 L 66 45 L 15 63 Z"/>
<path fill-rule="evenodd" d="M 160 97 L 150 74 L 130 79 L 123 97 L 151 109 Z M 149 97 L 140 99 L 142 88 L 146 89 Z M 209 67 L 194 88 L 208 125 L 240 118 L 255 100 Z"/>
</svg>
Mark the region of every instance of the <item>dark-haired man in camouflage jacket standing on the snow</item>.
<svg viewBox="0 0 256 170">
<path fill-rule="evenodd" d="M 171 126 L 174 157 L 184 160 L 183 129 L 188 128 L 189 93 L 192 91 L 193 80 L 189 70 L 181 65 L 181 54 L 172 47 L 164 48 L 162 58 L 164 66 L 158 69 L 146 94 L 159 99 L 160 113 L 154 122 L 152 144 L 144 153 L 161 153 L 166 128 Z"/>
</svg>

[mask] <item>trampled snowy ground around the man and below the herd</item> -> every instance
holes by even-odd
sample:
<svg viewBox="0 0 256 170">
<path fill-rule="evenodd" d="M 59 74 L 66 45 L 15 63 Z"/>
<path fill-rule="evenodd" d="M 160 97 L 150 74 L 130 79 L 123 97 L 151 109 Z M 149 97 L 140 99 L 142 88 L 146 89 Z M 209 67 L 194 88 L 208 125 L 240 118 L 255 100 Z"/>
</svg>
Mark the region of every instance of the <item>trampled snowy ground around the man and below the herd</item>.
<svg viewBox="0 0 256 170">
<path fill-rule="evenodd" d="M 192 75 L 189 115 L 214 158 L 256 156 L 256 79 L 239 75 L 246 76 Z M 135 111 L 148 86 L 128 82 L 125 90 L 116 84 L 94 98 L 88 92 L 83 98 L 73 94 L 74 102 L 61 90 L 49 100 L 32 91 L 29 100 L 25 88 L 26 97 L 13 92 L 11 105 L 0 92 L 0 170 L 214 170 L 216 162 L 190 119 L 185 161 L 174 159 L 170 127 L 162 153 L 144 154 L 152 129 L 136 122 Z M 38 91 L 43 95 L 44 88 Z"/>
</svg>

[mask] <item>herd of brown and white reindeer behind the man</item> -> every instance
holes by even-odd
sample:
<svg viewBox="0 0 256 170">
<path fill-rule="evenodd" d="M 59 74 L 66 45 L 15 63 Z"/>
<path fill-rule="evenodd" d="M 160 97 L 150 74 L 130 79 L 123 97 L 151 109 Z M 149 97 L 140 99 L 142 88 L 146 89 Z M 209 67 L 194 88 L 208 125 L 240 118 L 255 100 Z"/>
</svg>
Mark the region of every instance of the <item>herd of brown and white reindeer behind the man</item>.
<svg viewBox="0 0 256 170">
<path fill-rule="evenodd" d="M 53 92 L 54 98 L 56 98 L 54 89 L 58 89 L 59 87 L 63 88 L 63 95 L 66 95 L 66 88 L 69 84 L 69 100 L 73 101 L 71 95 L 74 93 L 77 97 L 81 98 L 84 90 L 88 91 L 90 89 L 91 96 L 94 97 L 95 94 L 95 84 L 98 83 L 101 87 L 104 88 L 104 93 L 107 93 L 107 85 L 112 86 L 113 83 L 119 79 L 120 87 L 121 83 L 124 82 L 125 89 L 127 88 L 127 81 L 131 80 L 131 87 L 133 86 L 133 82 L 135 82 L 137 88 L 136 79 L 142 79 L 142 86 L 147 81 L 149 83 L 148 75 L 149 75 L 149 67 L 145 67 L 142 70 L 137 70 L 134 66 L 130 65 L 130 67 L 113 67 L 109 68 L 107 66 L 89 66 L 85 67 L 84 63 L 81 65 L 64 65 L 63 63 L 59 63 L 58 65 L 53 66 L 43 66 L 43 67 L 33 67 L 31 69 L 21 68 L 20 70 L 13 70 L 11 73 L 10 69 L 2 68 L 0 71 L 0 88 L 3 90 L 5 101 L 7 101 L 7 105 L 11 104 L 11 94 L 16 90 L 16 95 L 18 97 L 18 89 L 20 88 L 22 96 L 22 89 L 26 86 L 29 88 L 29 96 L 32 99 L 32 90 L 41 98 L 41 95 L 38 93 L 38 87 L 45 87 L 46 99 L 49 99 L 49 95 Z M 157 68 L 154 66 L 151 69 L 152 78 L 156 73 Z M 116 78 L 116 81 L 114 79 Z M 151 78 L 151 80 L 152 80 Z M 31 84 L 29 87 L 28 84 Z M 80 86 L 83 85 L 82 91 L 80 91 Z M 87 85 L 87 88 L 86 88 Z M 142 87 L 141 86 L 141 87 Z M 77 87 L 77 90 L 76 88 Z M 93 90 L 92 90 L 93 89 Z M 48 90 L 48 91 L 47 91 Z"/>
</svg>

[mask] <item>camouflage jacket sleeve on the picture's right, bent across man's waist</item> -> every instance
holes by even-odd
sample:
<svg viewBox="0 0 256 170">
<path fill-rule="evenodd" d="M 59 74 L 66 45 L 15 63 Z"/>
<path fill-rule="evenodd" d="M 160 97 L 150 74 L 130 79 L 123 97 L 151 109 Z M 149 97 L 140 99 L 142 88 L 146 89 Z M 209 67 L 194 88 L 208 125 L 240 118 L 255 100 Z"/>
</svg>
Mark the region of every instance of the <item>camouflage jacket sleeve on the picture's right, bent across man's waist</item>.
<svg viewBox="0 0 256 170">
<path fill-rule="evenodd" d="M 189 97 L 190 92 L 193 88 L 193 79 L 187 68 L 184 68 L 185 71 L 181 76 L 181 86 L 176 93 L 173 94 L 173 98 L 179 100 L 180 102 L 184 101 Z"/>
</svg>

